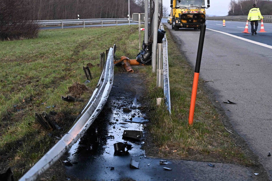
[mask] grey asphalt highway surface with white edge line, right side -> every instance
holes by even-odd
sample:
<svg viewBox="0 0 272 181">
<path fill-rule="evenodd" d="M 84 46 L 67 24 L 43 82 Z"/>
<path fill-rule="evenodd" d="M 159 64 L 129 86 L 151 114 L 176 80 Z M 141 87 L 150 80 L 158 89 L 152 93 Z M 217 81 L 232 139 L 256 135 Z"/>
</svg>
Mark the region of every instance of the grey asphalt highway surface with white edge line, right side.
<svg viewBox="0 0 272 181">
<path fill-rule="evenodd" d="M 193 69 L 199 30 L 174 31 L 164 23 Z M 259 157 L 272 180 L 272 24 L 264 24 L 267 33 L 244 31 L 245 22 L 207 21 L 200 78 L 206 81 L 225 110 L 235 131 Z M 258 31 L 260 31 L 261 23 Z M 249 25 L 250 28 L 250 25 Z M 168 53 L 169 53 L 168 49 Z M 170 75 L 171 76 L 171 75 Z M 171 89 L 171 85 L 170 85 Z M 230 100 L 237 104 L 226 104 Z"/>
</svg>

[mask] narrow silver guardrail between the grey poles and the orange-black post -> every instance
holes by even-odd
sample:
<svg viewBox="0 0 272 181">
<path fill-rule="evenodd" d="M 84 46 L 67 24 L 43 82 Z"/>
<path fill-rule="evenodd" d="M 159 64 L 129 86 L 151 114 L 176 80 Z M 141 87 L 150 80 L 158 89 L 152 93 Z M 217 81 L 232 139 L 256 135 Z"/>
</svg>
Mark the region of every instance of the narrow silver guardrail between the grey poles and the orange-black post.
<svg viewBox="0 0 272 181">
<path fill-rule="evenodd" d="M 162 23 L 160 29 L 164 30 Z M 171 101 L 170 101 L 170 87 L 169 87 L 169 73 L 168 73 L 168 48 L 167 48 L 166 35 L 162 39 L 162 56 L 163 56 L 163 92 L 165 105 L 171 114 Z"/>
</svg>

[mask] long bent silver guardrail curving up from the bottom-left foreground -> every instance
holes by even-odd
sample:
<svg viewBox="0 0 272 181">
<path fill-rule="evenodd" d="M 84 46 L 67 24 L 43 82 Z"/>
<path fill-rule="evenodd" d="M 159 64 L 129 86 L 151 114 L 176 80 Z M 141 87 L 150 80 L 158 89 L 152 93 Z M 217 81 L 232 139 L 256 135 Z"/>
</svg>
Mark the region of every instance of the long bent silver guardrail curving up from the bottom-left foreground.
<svg viewBox="0 0 272 181">
<path fill-rule="evenodd" d="M 71 129 L 19 181 L 38 180 L 88 130 L 104 107 L 114 78 L 113 48 L 102 70 L 98 85 Z"/>
</svg>

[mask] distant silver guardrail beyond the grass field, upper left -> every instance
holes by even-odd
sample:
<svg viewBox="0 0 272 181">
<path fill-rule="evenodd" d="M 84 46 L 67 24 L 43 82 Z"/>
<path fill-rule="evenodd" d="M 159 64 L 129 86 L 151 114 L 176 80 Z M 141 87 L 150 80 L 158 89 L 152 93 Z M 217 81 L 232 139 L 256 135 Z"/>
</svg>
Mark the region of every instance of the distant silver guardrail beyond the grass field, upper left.
<svg viewBox="0 0 272 181">
<path fill-rule="evenodd" d="M 37 20 L 35 21 L 40 26 L 67 26 L 67 25 L 83 25 L 85 28 L 85 25 L 101 25 L 103 26 L 103 23 L 108 24 L 114 24 L 118 25 L 118 23 L 128 23 L 128 18 L 108 18 L 108 19 L 62 19 L 62 20 Z M 130 22 L 138 23 L 138 21 L 132 21 L 130 19 Z"/>
</svg>

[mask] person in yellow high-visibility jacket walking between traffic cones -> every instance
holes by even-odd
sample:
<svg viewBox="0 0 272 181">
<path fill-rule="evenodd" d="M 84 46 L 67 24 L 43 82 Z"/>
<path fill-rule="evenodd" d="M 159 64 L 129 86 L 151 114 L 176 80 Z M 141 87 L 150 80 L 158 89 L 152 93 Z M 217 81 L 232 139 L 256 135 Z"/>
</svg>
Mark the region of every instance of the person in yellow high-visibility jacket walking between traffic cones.
<svg viewBox="0 0 272 181">
<path fill-rule="evenodd" d="M 253 8 L 249 10 L 247 21 L 250 21 L 251 25 L 251 35 L 257 35 L 257 29 L 258 29 L 258 20 L 263 19 L 263 16 L 261 15 L 261 11 L 259 8 L 256 7 L 256 4 L 253 4 Z M 255 25 L 255 28 L 254 28 Z"/>
</svg>

